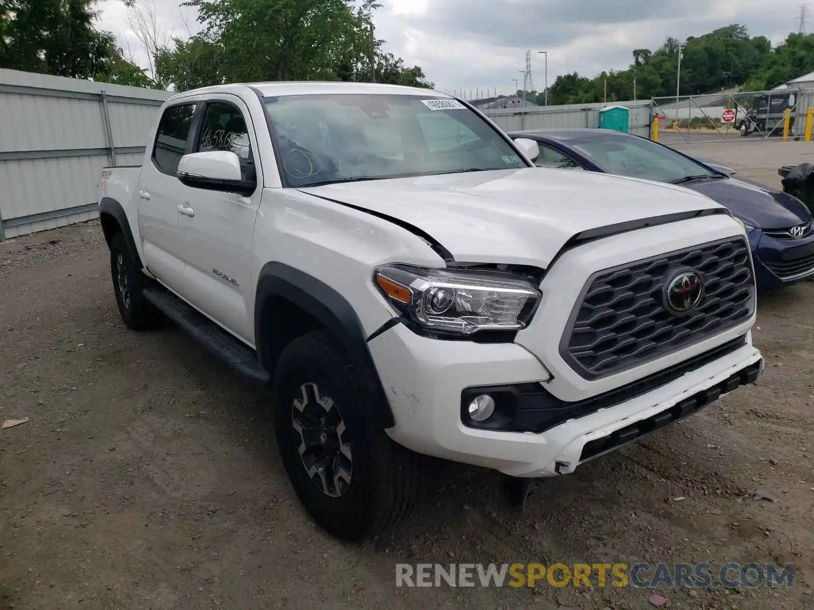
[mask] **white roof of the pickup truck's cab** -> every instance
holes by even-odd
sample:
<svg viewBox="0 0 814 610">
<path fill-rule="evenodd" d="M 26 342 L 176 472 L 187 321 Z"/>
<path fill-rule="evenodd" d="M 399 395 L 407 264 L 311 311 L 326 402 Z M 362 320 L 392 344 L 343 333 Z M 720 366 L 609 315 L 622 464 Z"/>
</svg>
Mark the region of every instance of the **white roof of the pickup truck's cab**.
<svg viewBox="0 0 814 610">
<path fill-rule="evenodd" d="M 354 83 L 344 81 L 270 81 L 260 83 L 234 83 L 230 85 L 212 85 L 199 89 L 183 91 L 172 98 L 183 98 L 188 95 L 212 94 L 217 91 L 232 91 L 250 87 L 260 91 L 264 96 L 274 95 L 308 95 L 308 94 L 385 94 L 385 95 L 431 95 L 434 98 L 451 98 L 447 94 L 433 89 L 405 87 L 403 85 L 385 85 L 379 83 Z"/>
</svg>

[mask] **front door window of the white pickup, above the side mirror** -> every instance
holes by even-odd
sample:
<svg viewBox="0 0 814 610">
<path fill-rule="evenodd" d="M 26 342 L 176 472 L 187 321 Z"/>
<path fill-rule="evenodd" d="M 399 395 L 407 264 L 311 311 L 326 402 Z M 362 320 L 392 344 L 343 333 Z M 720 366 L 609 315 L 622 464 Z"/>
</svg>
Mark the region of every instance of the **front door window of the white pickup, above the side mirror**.
<svg viewBox="0 0 814 610">
<path fill-rule="evenodd" d="M 229 102 L 209 102 L 204 112 L 197 152 L 228 150 L 238 155 L 243 180 L 257 179 L 252 159 L 252 145 L 246 121 L 238 107 Z"/>
</svg>

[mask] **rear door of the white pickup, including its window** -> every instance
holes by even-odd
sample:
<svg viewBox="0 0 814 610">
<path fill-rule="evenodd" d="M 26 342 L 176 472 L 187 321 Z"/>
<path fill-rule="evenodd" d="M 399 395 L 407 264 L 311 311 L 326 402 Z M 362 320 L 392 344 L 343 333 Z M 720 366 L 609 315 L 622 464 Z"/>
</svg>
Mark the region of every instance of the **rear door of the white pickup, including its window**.
<svg viewBox="0 0 814 610">
<path fill-rule="evenodd" d="M 199 96 L 200 98 L 200 96 Z M 186 187 L 177 179 L 178 162 L 192 142 L 199 99 L 166 107 L 161 115 L 152 153 L 138 176 L 136 198 L 144 264 L 173 290 L 183 282 L 184 259 L 178 241 L 178 205 Z"/>
</svg>

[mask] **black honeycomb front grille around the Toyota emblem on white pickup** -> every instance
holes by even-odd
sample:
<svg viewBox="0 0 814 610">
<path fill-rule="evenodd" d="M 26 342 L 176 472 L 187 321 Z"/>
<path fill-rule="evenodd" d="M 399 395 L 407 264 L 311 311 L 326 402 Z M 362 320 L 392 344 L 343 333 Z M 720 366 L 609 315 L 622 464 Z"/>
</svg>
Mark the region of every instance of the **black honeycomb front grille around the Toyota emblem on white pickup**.
<svg viewBox="0 0 814 610">
<path fill-rule="evenodd" d="M 663 293 L 684 268 L 700 272 L 706 291 L 692 312 L 676 316 Z M 701 342 L 754 311 L 746 241 L 711 242 L 594 273 L 571 313 L 560 354 L 582 377 L 605 377 Z"/>
</svg>

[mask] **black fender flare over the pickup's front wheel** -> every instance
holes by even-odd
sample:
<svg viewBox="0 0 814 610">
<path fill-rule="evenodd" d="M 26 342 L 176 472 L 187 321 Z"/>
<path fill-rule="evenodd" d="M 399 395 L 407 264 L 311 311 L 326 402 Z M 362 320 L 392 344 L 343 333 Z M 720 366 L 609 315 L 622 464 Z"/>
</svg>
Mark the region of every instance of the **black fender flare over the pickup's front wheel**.
<svg viewBox="0 0 814 610">
<path fill-rule="evenodd" d="M 392 428 L 396 425 L 390 401 L 367 346 L 365 331 L 351 304 L 323 281 L 287 264 L 266 263 L 257 279 L 255 345 L 260 363 L 265 366 L 265 359 L 268 359 L 264 359 L 263 355 L 265 330 L 262 316 L 265 304 L 274 297 L 284 298 L 300 307 L 339 339 L 351 359 L 363 390 L 374 397 L 377 407 L 370 414 L 372 423 L 379 428 Z M 271 370 L 274 367 L 266 368 Z"/>
</svg>

